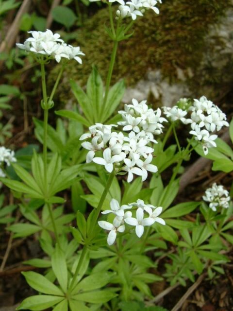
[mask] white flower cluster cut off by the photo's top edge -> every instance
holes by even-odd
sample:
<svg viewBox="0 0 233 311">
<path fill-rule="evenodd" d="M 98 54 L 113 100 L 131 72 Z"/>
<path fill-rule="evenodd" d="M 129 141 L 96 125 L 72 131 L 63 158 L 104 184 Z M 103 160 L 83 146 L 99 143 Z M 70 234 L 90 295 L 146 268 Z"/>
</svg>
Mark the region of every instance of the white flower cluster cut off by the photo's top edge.
<svg viewBox="0 0 233 311">
<path fill-rule="evenodd" d="M 90 2 L 100 0 L 90 0 Z M 133 20 L 137 16 L 143 16 L 145 10 L 151 9 L 156 14 L 159 14 L 159 9 L 156 7 L 157 3 L 162 3 L 161 0 L 108 0 L 108 2 L 118 2 L 120 5 L 116 11 L 116 18 L 132 17 Z"/>
</svg>

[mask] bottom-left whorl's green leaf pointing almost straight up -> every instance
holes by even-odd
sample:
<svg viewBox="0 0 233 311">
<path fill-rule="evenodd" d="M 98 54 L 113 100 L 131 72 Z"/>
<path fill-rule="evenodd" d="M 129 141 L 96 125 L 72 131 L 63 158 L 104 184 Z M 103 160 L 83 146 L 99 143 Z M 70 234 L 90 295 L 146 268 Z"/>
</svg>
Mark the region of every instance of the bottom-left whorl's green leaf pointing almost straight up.
<svg viewBox="0 0 233 311">
<path fill-rule="evenodd" d="M 64 293 L 67 292 L 67 262 L 64 252 L 60 249 L 58 245 L 55 247 L 55 251 L 51 258 L 52 270 L 62 288 Z"/>
</svg>

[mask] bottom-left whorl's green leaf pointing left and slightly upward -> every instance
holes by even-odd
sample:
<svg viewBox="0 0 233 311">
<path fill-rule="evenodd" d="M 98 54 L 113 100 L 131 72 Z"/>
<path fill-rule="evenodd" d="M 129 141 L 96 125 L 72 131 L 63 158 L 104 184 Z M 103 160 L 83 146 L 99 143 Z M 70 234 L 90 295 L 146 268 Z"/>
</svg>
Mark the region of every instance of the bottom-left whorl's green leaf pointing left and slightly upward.
<svg viewBox="0 0 233 311">
<path fill-rule="evenodd" d="M 26 281 L 34 290 L 42 294 L 51 294 L 57 296 L 64 295 L 57 286 L 55 286 L 46 277 L 40 275 L 39 273 L 29 271 L 22 272 L 22 275 L 26 278 Z"/>
</svg>

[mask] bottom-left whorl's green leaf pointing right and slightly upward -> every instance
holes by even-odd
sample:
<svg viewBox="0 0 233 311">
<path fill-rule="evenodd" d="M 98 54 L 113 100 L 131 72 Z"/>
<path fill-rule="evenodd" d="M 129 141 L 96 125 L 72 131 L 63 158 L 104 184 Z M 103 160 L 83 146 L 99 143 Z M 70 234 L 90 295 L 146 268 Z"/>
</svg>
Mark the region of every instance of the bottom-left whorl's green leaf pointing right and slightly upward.
<svg viewBox="0 0 233 311">
<path fill-rule="evenodd" d="M 100 272 L 87 276 L 83 278 L 79 282 L 79 284 L 73 289 L 72 294 L 97 290 L 107 285 L 110 282 L 113 275 L 114 274 L 110 272 Z"/>
</svg>

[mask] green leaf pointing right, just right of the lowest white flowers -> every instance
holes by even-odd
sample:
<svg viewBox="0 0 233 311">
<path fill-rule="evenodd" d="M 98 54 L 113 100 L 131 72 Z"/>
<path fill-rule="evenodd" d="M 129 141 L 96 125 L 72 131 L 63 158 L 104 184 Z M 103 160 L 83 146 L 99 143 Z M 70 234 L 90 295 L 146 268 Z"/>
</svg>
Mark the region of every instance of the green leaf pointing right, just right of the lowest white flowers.
<svg viewBox="0 0 233 311">
<path fill-rule="evenodd" d="M 162 214 L 162 218 L 175 218 L 187 215 L 191 213 L 199 205 L 200 205 L 199 202 L 185 202 L 177 204 L 176 206 L 167 209 Z"/>
</svg>

